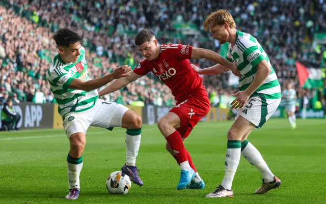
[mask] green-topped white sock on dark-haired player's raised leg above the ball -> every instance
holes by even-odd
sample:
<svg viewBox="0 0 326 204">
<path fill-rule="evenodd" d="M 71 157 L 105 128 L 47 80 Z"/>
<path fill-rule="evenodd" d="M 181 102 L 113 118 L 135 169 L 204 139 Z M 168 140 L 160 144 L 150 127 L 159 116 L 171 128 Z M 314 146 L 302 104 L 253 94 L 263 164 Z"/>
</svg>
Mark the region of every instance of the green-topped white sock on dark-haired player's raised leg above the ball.
<svg viewBox="0 0 326 204">
<path fill-rule="evenodd" d="M 138 155 L 141 144 L 142 129 L 128 129 L 126 134 L 126 164 L 128 166 L 136 165 L 136 157 Z"/>
</svg>

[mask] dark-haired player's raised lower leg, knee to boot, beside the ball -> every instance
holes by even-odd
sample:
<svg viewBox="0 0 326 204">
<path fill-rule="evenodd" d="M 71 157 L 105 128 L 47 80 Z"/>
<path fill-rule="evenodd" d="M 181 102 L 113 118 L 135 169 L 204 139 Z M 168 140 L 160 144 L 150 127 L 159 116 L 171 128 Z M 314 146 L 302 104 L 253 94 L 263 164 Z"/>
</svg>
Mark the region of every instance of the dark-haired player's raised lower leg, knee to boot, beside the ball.
<svg viewBox="0 0 326 204">
<path fill-rule="evenodd" d="M 126 128 L 126 163 L 121 171 L 127 174 L 130 180 L 140 186 L 144 183 L 139 176 L 136 166 L 141 137 L 142 137 L 142 118 L 132 110 L 127 110 L 122 117 L 121 127 Z"/>
</svg>

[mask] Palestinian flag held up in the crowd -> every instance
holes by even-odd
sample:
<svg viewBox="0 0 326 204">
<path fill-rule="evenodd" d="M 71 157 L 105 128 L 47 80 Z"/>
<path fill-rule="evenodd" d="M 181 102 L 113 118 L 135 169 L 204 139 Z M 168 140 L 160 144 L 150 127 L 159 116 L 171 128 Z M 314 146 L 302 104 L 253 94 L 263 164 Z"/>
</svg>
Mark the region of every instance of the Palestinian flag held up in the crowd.
<svg viewBox="0 0 326 204">
<path fill-rule="evenodd" d="M 295 62 L 296 72 L 302 88 L 319 88 L 323 85 L 320 65 L 310 62 Z"/>
</svg>

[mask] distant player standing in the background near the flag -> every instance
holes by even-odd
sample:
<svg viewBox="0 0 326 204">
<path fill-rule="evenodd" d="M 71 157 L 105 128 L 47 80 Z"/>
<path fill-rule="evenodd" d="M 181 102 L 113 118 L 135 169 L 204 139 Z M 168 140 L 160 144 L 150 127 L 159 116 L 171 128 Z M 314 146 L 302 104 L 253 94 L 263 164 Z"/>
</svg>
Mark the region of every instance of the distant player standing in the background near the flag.
<svg viewBox="0 0 326 204">
<path fill-rule="evenodd" d="M 296 104 L 296 92 L 292 89 L 292 84 L 287 84 L 287 89 L 283 90 L 282 98 L 284 99 L 284 107 L 288 116 L 289 123 L 292 129 L 296 128 L 295 123 L 295 104 Z"/>
</svg>

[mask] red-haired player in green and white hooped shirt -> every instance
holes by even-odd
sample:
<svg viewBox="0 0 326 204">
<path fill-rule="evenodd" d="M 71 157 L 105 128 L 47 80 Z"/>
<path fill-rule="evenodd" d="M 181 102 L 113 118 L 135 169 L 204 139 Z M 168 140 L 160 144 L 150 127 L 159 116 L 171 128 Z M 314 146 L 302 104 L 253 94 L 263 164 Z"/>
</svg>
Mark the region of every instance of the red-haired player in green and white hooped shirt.
<svg viewBox="0 0 326 204">
<path fill-rule="evenodd" d="M 255 128 L 262 127 L 275 112 L 281 101 L 281 88 L 276 73 L 271 67 L 267 54 L 256 38 L 236 30 L 231 14 L 218 10 L 207 16 L 205 30 L 220 44 L 229 42 L 227 59 L 237 65 L 240 71 L 239 92 L 231 103 L 232 108 L 240 108 L 238 116 L 228 132 L 223 182 L 206 197 L 233 197 L 232 181 L 240 161 L 240 155 L 258 168 L 263 176 L 263 184 L 255 191 L 263 194 L 277 188 L 281 181 L 269 170 L 259 151 L 247 137 Z M 218 74 L 222 65 L 201 69 L 199 74 Z"/>
</svg>

